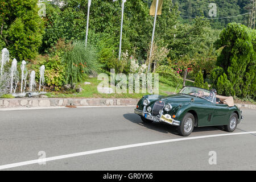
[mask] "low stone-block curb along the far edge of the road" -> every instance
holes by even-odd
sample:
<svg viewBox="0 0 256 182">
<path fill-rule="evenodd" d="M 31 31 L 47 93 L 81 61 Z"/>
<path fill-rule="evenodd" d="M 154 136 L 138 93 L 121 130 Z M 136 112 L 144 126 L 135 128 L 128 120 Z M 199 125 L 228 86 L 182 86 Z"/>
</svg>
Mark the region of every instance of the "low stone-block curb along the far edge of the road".
<svg viewBox="0 0 256 182">
<path fill-rule="evenodd" d="M 137 105 L 136 98 L 3 98 L 0 108 L 49 106 L 129 106 Z M 235 104 L 242 109 L 256 109 L 256 105 Z"/>
</svg>

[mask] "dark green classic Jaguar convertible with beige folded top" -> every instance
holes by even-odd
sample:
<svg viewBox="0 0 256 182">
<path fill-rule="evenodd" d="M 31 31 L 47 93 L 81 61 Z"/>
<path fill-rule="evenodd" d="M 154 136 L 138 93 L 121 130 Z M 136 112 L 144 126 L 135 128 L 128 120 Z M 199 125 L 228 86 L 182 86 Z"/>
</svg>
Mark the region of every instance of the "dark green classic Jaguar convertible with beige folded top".
<svg viewBox="0 0 256 182">
<path fill-rule="evenodd" d="M 143 96 L 134 113 L 140 115 L 143 122 L 177 126 L 184 137 L 190 135 L 194 127 L 203 126 L 224 125 L 226 131 L 233 132 L 243 119 L 233 97 L 217 96 L 214 90 L 194 86 L 184 86 L 170 96 Z"/>
</svg>

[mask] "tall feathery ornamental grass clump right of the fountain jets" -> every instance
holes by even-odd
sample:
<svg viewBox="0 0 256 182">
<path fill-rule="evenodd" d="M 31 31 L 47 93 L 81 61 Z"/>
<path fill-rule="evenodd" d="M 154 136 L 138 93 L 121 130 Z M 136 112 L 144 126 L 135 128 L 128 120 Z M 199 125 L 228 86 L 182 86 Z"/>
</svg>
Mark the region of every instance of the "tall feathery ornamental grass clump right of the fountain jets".
<svg viewBox="0 0 256 182">
<path fill-rule="evenodd" d="M 72 49 L 64 53 L 62 63 L 67 65 L 65 82 L 73 84 L 84 80 L 86 74 L 98 72 L 100 64 L 97 61 L 97 52 L 89 44 L 85 48 L 85 43 L 74 42 Z"/>
</svg>

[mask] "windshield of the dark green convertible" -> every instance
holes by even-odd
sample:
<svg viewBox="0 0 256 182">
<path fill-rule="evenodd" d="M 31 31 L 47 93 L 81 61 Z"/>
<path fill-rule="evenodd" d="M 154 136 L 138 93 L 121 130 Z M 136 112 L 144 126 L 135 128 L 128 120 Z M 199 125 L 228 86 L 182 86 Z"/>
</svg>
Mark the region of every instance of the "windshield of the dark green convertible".
<svg viewBox="0 0 256 182">
<path fill-rule="evenodd" d="M 201 88 L 196 88 L 193 86 L 184 86 L 183 89 L 181 89 L 179 93 L 188 94 L 188 95 L 196 96 L 196 97 L 201 97 L 210 102 L 213 101 L 213 96 L 214 96 L 214 93 L 212 91 L 201 89 Z"/>
</svg>

